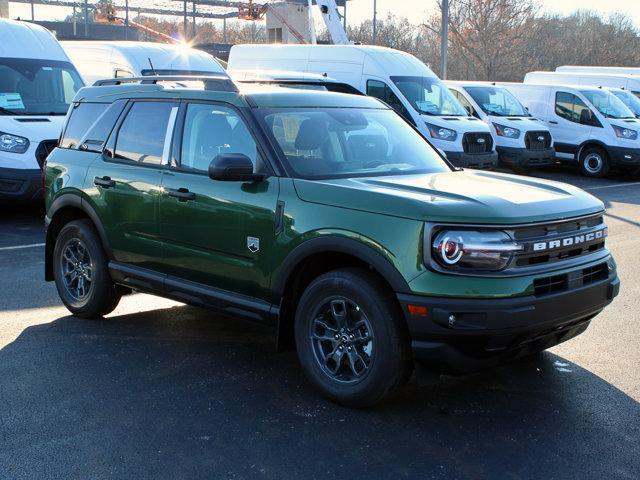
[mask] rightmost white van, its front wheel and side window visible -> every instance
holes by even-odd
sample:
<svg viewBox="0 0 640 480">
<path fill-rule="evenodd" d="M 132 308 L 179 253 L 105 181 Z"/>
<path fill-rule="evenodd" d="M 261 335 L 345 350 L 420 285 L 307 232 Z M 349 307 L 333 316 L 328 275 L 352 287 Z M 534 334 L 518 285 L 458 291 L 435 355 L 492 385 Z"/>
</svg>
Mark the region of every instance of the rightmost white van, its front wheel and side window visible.
<svg viewBox="0 0 640 480">
<path fill-rule="evenodd" d="M 556 156 L 577 161 L 585 175 L 602 177 L 611 167 L 638 171 L 640 121 L 608 90 L 577 85 L 500 85 L 546 122 Z"/>
</svg>

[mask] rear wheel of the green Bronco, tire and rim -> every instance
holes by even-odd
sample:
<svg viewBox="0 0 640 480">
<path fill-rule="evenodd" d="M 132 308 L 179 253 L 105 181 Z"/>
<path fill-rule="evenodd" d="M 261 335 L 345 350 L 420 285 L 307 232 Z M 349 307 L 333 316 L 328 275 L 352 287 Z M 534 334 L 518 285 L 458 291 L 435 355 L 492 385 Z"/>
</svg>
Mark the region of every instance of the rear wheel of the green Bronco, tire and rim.
<svg viewBox="0 0 640 480">
<path fill-rule="evenodd" d="M 78 317 L 102 317 L 120 301 L 90 220 L 75 220 L 60 230 L 53 249 L 53 276 L 62 303 Z M 85 288 L 80 288 L 80 282 Z"/>
</svg>

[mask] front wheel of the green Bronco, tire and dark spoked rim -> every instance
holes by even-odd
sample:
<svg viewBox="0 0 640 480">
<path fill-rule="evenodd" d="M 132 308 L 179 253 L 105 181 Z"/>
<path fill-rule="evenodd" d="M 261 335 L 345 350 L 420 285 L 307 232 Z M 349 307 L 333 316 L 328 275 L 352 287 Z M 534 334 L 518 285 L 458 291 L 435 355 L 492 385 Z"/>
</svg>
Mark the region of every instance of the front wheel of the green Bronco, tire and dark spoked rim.
<svg viewBox="0 0 640 480">
<path fill-rule="evenodd" d="M 337 318 L 349 328 L 334 329 L 334 325 L 339 328 Z M 331 328 L 319 327 L 323 322 Z M 295 339 L 300 364 L 311 384 L 330 400 L 349 407 L 380 402 L 404 384 L 413 370 L 409 335 L 397 301 L 365 270 L 335 270 L 311 282 L 296 310 Z M 321 358 L 326 352 L 332 352 L 324 356 L 332 357 L 329 363 Z M 339 362 L 333 359 L 334 353 L 340 355 Z M 352 363 L 358 357 L 362 361 Z M 334 369 L 337 374 L 330 373 Z"/>
</svg>

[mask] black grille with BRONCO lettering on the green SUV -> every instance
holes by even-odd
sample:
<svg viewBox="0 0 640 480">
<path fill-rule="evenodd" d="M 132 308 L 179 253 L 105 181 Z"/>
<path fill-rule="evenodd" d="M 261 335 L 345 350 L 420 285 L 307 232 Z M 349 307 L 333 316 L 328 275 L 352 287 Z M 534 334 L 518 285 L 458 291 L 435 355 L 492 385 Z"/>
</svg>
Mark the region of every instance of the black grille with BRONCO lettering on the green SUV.
<svg viewBox="0 0 640 480">
<path fill-rule="evenodd" d="M 515 228 L 510 233 L 517 243 L 525 247 L 523 252 L 516 255 L 511 266 L 526 268 L 563 262 L 603 250 L 607 230 L 602 215 L 595 215 L 548 225 Z M 545 248 L 538 250 L 540 245 Z"/>
</svg>

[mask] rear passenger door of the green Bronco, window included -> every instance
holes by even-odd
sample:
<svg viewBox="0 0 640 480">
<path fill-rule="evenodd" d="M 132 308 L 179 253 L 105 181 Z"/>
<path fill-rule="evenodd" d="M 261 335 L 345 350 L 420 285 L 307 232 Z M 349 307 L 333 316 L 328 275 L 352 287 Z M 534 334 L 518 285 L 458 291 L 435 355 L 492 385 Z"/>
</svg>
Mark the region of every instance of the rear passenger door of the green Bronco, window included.
<svg viewBox="0 0 640 480">
<path fill-rule="evenodd" d="M 118 262 L 161 269 L 158 199 L 177 112 L 172 101 L 130 102 L 89 169 L 89 199 Z"/>
</svg>

